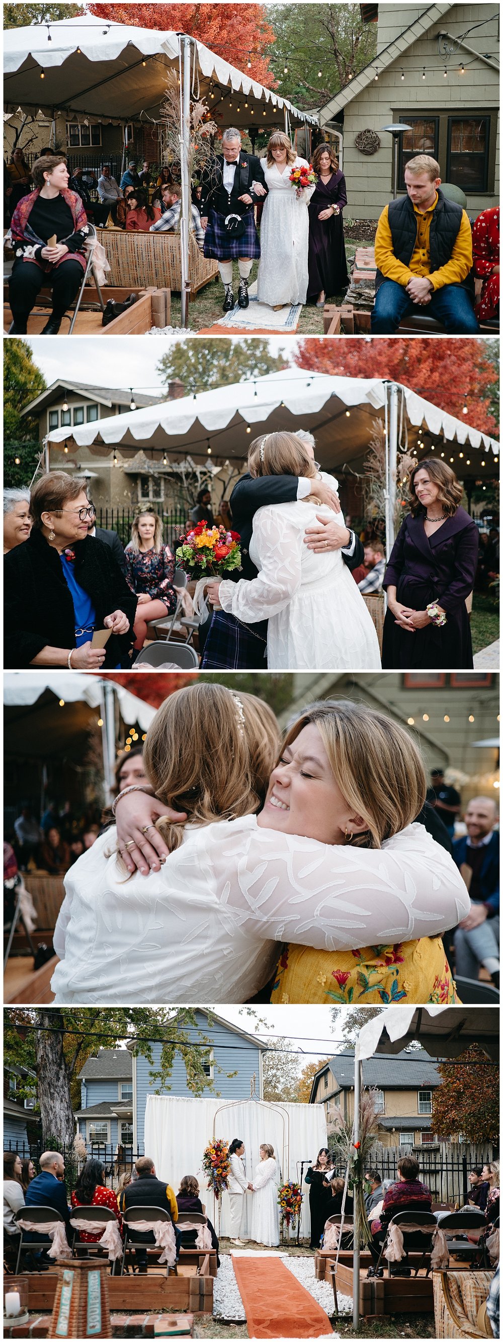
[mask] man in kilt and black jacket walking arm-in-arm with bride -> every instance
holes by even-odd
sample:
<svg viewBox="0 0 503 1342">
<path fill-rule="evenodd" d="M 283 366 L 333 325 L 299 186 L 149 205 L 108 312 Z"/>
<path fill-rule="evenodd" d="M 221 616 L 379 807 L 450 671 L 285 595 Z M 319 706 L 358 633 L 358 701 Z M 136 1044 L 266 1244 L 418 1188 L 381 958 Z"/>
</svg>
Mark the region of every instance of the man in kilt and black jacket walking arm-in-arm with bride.
<svg viewBox="0 0 503 1342">
<path fill-rule="evenodd" d="M 203 180 L 200 209 L 205 232 L 203 251 L 219 262 L 225 289 L 224 313 L 229 313 L 233 260 L 239 266 L 237 303 L 240 307 L 249 305 L 249 271 L 260 256 L 254 205 L 267 196 L 267 187 L 260 160 L 241 149 L 241 136 L 235 126 L 224 130 L 221 146 L 223 154 L 217 154 Z"/>
</svg>

